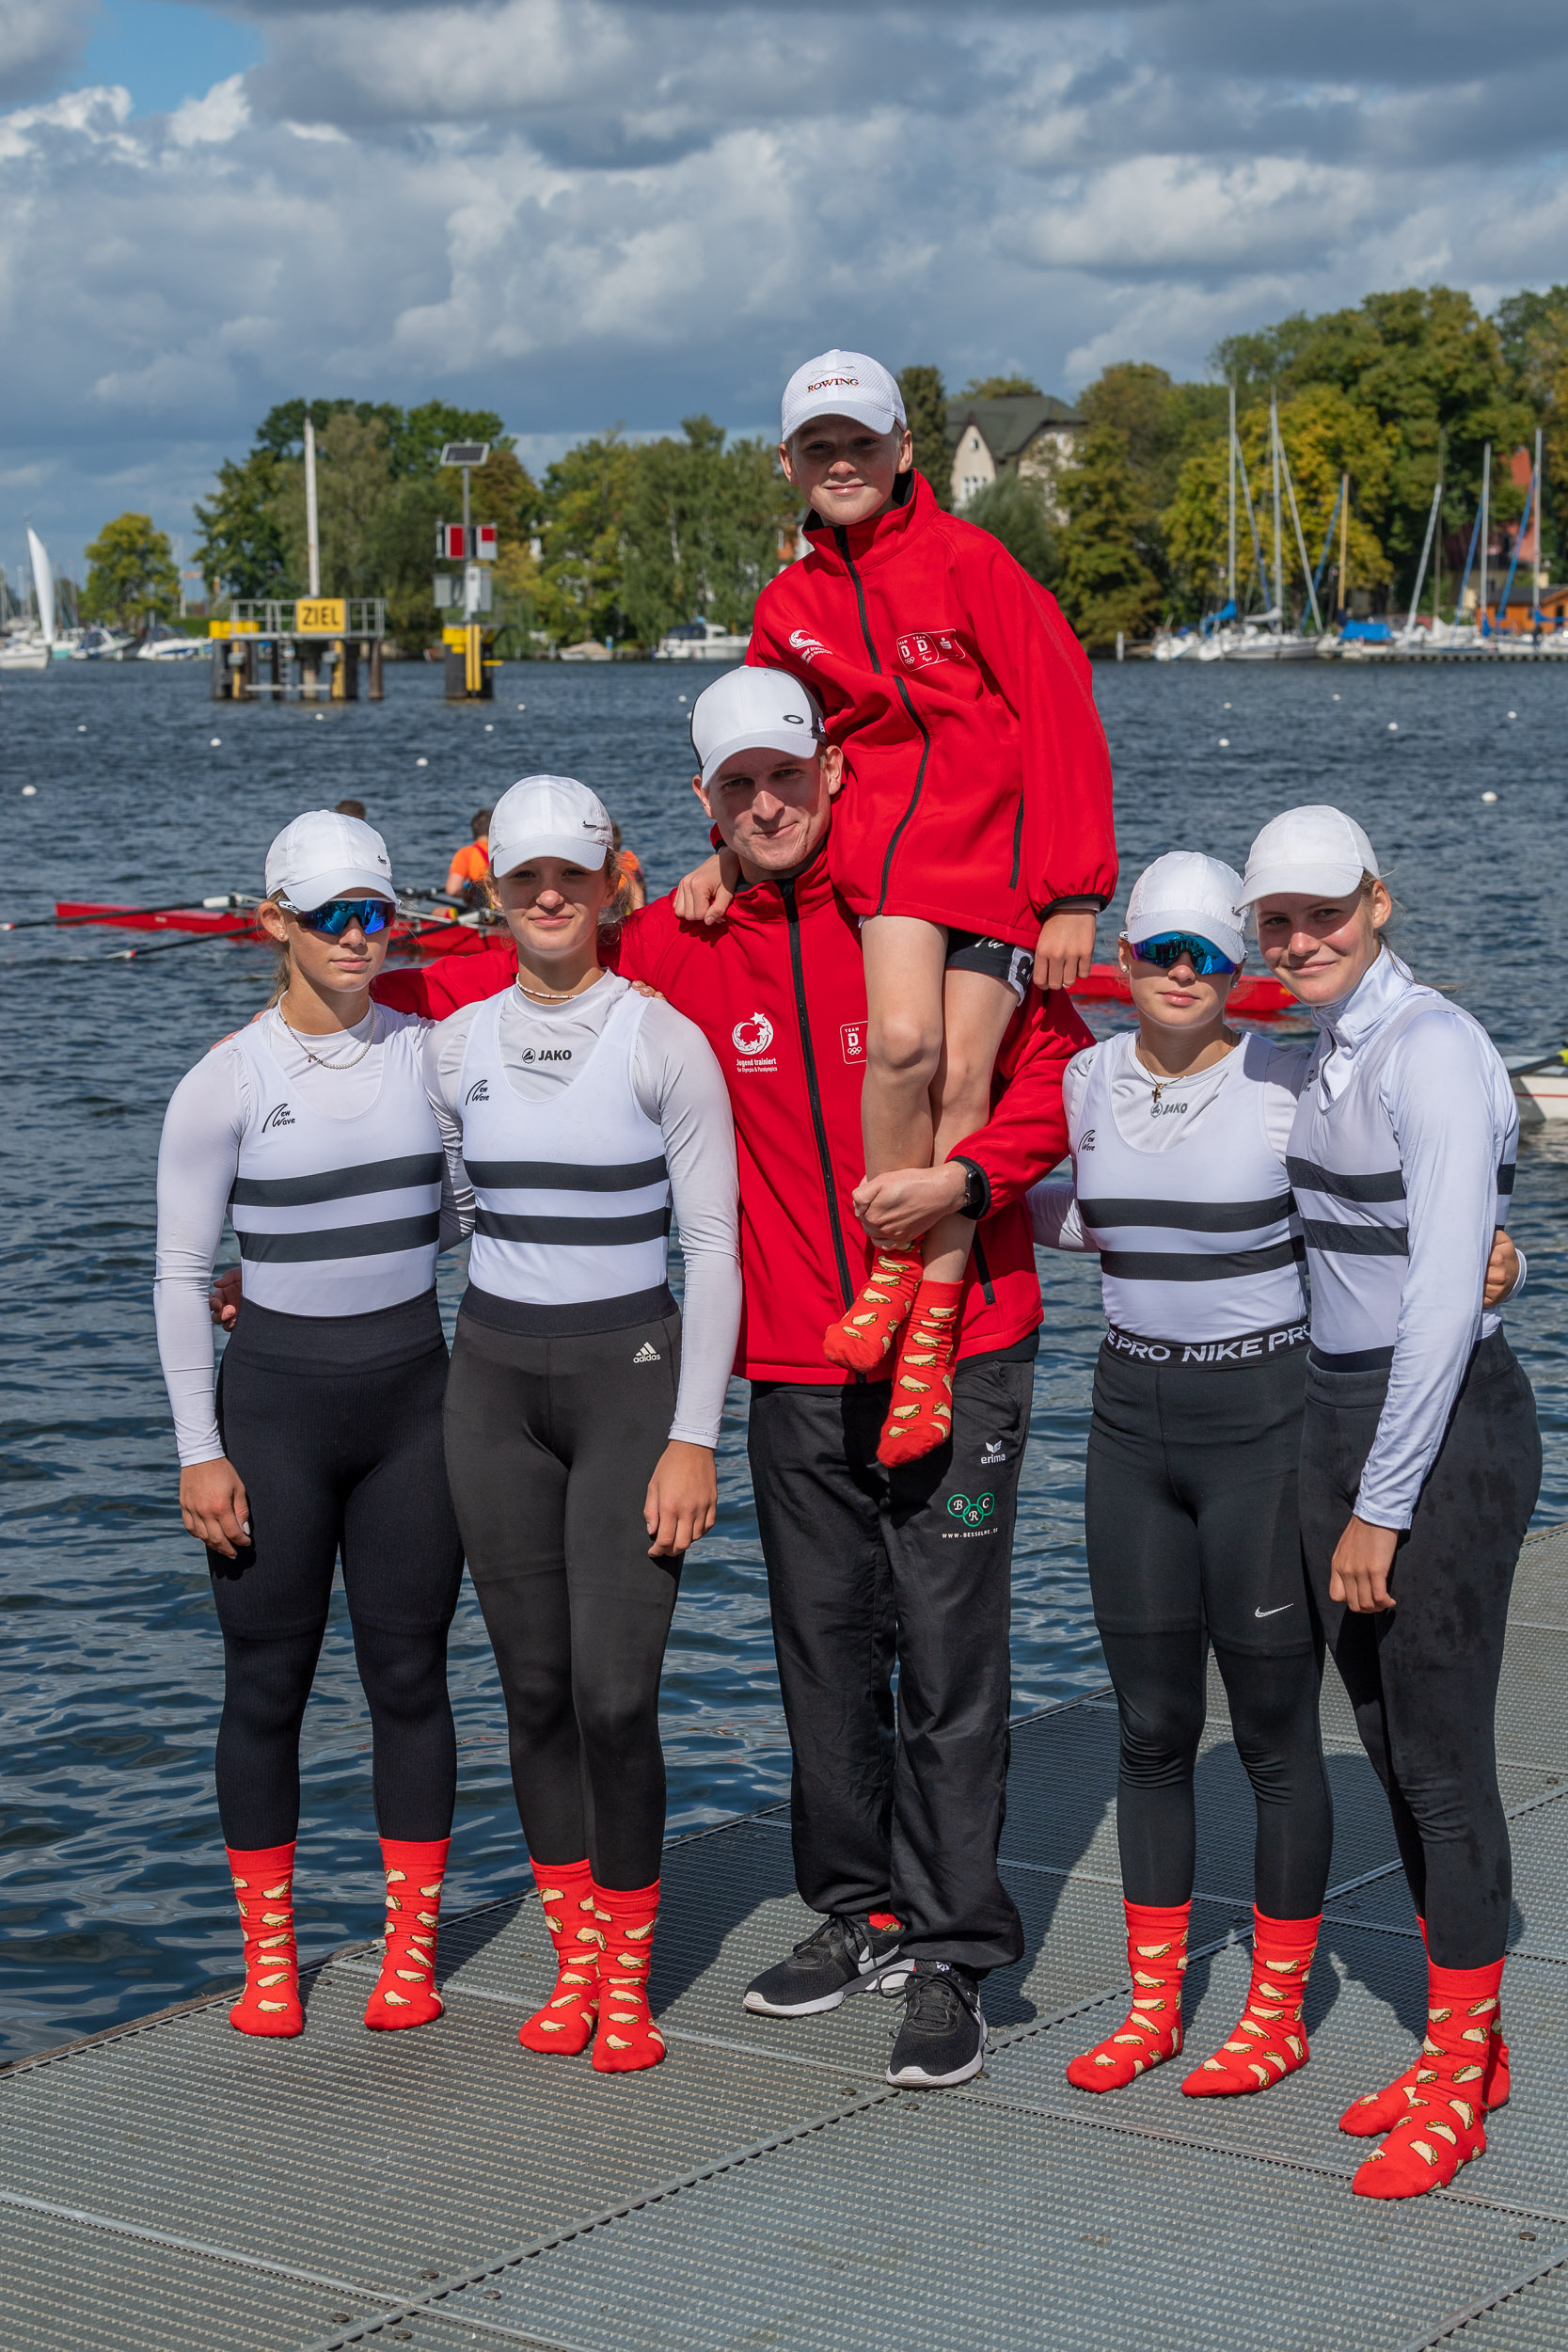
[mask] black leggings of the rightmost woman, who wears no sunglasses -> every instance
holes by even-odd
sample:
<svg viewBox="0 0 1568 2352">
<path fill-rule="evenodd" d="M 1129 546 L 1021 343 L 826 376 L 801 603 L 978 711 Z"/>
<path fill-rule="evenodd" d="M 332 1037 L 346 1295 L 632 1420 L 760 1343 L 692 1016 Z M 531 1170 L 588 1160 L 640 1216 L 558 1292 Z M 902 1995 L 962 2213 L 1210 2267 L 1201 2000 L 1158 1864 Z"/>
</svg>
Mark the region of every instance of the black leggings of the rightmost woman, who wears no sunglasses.
<svg viewBox="0 0 1568 2352">
<path fill-rule="evenodd" d="M 1535 1397 L 1502 1331 L 1483 1338 L 1394 1552 L 1396 1606 L 1352 1613 L 1328 1599 L 1328 1571 L 1387 1385 L 1387 1371 L 1307 1367 L 1307 1573 L 1389 1797 L 1427 1950 L 1439 1969 L 1486 1969 L 1502 1959 L 1514 1893 L 1493 1715 L 1514 1564 L 1540 1494 Z"/>
</svg>

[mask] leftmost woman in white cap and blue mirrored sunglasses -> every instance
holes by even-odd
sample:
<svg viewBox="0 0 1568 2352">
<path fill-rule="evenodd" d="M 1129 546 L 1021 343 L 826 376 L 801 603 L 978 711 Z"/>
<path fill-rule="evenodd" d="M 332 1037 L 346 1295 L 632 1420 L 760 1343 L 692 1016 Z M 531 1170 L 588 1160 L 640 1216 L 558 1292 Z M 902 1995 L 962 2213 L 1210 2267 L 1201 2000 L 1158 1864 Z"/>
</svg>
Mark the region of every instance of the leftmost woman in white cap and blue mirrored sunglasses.
<svg viewBox="0 0 1568 2352">
<path fill-rule="evenodd" d="M 371 1004 L 395 915 L 378 833 L 296 816 L 266 861 L 268 1009 L 174 1089 L 158 1155 L 158 1350 L 179 1503 L 223 1628 L 219 1816 L 244 1929 L 230 2023 L 296 2034 L 299 1726 L 343 1585 L 371 1715 L 386 1962 L 371 2027 L 425 2025 L 456 1790 L 447 1628 L 463 1573 L 447 1468 L 437 1247 L 458 1237 L 423 1084 L 428 1021 Z M 212 1378 L 228 1214 L 242 1303 Z M 228 1319 L 228 1312 L 223 1315 Z"/>
</svg>

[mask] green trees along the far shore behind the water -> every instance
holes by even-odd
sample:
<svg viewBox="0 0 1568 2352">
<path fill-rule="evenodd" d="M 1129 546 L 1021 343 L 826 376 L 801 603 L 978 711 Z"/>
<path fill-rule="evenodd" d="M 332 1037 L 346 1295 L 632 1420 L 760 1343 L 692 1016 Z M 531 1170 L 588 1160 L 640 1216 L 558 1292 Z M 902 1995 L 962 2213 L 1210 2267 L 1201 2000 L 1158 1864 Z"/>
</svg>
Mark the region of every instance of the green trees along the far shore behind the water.
<svg viewBox="0 0 1568 2352">
<path fill-rule="evenodd" d="M 952 409 L 964 400 L 1039 393 L 1027 379 L 1004 376 L 969 383 L 950 400 L 933 365 L 905 367 L 900 383 L 914 463 L 943 506 L 952 496 Z M 1267 480 L 1269 397 L 1279 400 L 1314 553 L 1340 475 L 1349 475 L 1347 576 L 1359 609 L 1385 612 L 1408 597 L 1439 477 L 1446 485 L 1439 576 L 1458 583 L 1488 442 L 1497 548 L 1512 546 L 1528 480 L 1514 452 L 1537 428 L 1542 562 L 1549 576 L 1561 576 L 1568 285 L 1512 294 L 1490 318 L 1462 289 L 1410 287 L 1229 336 L 1211 353 L 1204 381 L 1180 383 L 1140 360 L 1105 367 L 1074 402 L 1081 428 L 1056 468 L 1027 477 L 999 470 L 964 506 L 971 522 L 992 529 L 1058 595 L 1091 652 L 1107 649 L 1117 633 L 1133 642 L 1159 623 L 1194 623 L 1222 600 L 1229 383 L 1255 496 Z M 195 560 L 223 600 L 303 593 L 303 400 L 273 407 L 252 452 L 226 459 L 212 496 L 197 501 Z M 797 548 L 799 506 L 773 447 L 731 440 L 708 416 L 689 416 L 679 435 L 658 440 L 632 442 L 621 428 L 590 435 L 538 482 L 520 463 L 503 419 L 487 409 L 315 400 L 310 416 L 322 593 L 383 595 L 388 637 L 409 656 L 440 642 L 430 590 L 435 524 L 461 510 L 458 475 L 440 466 L 447 440 L 491 442 L 489 461 L 473 475 L 473 517 L 501 532 L 494 626 L 496 652 L 510 659 L 550 659 L 585 640 L 637 656 L 696 616 L 745 633 L 764 581 Z M 1272 564 L 1265 506 L 1258 496 Z M 1251 541 L 1244 543 L 1253 569 Z M 134 602 L 139 614 L 176 621 L 169 541 L 148 517 L 118 517 L 87 555 L 85 619 L 113 621 Z M 1333 569 L 1326 600 L 1340 602 Z M 1255 583 L 1253 602 L 1267 602 Z"/>
</svg>

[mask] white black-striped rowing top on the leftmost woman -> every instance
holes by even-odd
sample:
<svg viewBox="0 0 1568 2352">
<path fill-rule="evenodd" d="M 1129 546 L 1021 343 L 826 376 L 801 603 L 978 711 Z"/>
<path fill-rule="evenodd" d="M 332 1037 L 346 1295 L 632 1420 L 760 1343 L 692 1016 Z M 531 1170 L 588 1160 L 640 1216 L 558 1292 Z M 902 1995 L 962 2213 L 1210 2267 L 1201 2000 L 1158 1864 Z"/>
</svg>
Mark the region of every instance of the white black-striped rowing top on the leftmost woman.
<svg viewBox="0 0 1568 2352">
<path fill-rule="evenodd" d="M 395 1014 L 381 1014 L 390 1025 Z M 244 1296 L 280 1315 L 371 1315 L 435 1282 L 442 1134 L 425 1096 L 425 1025 L 381 1047 L 376 1101 L 350 1120 L 313 1110 L 275 1061 L 266 1021 L 230 1044 L 249 1073 L 249 1117 L 228 1221 Z M 341 1047 L 334 1040 L 334 1051 Z"/>
</svg>

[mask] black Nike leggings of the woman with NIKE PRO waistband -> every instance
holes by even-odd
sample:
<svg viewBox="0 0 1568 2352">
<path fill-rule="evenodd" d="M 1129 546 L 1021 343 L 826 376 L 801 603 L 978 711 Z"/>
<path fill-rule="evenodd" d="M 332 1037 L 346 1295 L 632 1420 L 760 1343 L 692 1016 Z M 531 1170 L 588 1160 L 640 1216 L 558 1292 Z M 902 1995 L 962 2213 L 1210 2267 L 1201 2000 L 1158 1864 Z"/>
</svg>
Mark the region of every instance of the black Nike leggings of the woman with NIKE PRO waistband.
<svg viewBox="0 0 1568 2352">
<path fill-rule="evenodd" d="M 1258 1802 L 1258 1910 L 1312 1919 L 1324 1907 L 1333 1806 L 1295 1505 L 1302 1359 L 1150 1364 L 1100 1350 L 1084 1526 L 1121 1712 L 1117 1842 L 1131 1903 L 1192 1893 L 1213 1642 Z"/>
</svg>

